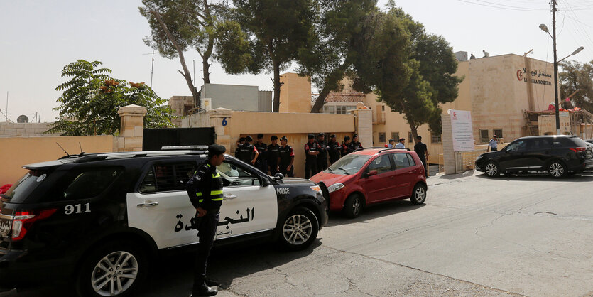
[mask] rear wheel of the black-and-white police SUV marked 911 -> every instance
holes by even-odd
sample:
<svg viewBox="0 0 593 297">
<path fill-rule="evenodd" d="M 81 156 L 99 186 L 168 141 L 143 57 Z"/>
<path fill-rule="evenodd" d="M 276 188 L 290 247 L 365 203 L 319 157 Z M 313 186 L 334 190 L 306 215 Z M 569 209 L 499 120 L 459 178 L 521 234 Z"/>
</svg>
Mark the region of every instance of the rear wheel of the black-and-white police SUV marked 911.
<svg viewBox="0 0 593 297">
<path fill-rule="evenodd" d="M 81 266 L 77 281 L 80 296 L 129 296 L 148 272 L 141 250 L 125 242 L 94 249 Z"/>
</svg>

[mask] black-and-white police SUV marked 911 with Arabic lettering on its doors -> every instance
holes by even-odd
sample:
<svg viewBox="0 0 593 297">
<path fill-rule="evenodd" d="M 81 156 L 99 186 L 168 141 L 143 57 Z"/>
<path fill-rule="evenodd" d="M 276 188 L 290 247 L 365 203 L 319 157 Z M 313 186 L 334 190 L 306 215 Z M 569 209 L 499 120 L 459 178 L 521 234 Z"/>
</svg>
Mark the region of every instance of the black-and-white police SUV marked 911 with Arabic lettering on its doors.
<svg viewBox="0 0 593 297">
<path fill-rule="evenodd" d="M 185 184 L 206 161 L 207 147 L 168 149 L 81 153 L 23 166 L 29 172 L 1 195 L 0 286 L 63 279 L 80 296 L 129 295 L 160 252 L 196 244 Z M 215 244 L 312 244 L 327 223 L 325 185 L 270 177 L 225 158 Z"/>
</svg>

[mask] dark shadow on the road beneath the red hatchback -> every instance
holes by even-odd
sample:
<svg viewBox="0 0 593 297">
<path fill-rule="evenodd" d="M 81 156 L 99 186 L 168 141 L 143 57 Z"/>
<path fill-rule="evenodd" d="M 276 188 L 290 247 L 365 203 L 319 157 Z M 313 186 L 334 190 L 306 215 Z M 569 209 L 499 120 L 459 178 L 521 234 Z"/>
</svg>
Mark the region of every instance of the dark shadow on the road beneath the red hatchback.
<svg viewBox="0 0 593 297">
<path fill-rule="evenodd" d="M 430 193 L 430 191 L 428 193 Z M 426 199 L 430 200 L 430 195 L 428 195 Z M 360 216 L 355 219 L 349 219 L 347 217 L 344 217 L 344 215 L 342 215 L 341 212 L 330 212 L 330 220 L 329 222 L 327 222 L 327 225 L 325 226 L 332 227 L 352 224 L 356 222 L 366 222 L 371 219 L 376 219 L 377 217 L 386 217 L 388 215 L 396 215 L 401 212 L 417 210 L 418 208 L 423 206 L 425 205 L 414 205 L 408 199 L 383 202 L 377 205 L 370 205 L 365 207 Z"/>
</svg>

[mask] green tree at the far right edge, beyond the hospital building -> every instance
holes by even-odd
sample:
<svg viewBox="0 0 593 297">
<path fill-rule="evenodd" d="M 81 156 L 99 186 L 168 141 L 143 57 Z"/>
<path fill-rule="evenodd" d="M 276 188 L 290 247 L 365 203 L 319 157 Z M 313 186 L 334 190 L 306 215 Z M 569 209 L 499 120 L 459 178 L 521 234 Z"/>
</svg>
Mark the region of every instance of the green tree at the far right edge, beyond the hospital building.
<svg viewBox="0 0 593 297">
<path fill-rule="evenodd" d="M 589 63 L 560 63 L 560 94 L 562 98 L 570 97 L 575 107 L 593 112 L 593 61 Z"/>
</svg>

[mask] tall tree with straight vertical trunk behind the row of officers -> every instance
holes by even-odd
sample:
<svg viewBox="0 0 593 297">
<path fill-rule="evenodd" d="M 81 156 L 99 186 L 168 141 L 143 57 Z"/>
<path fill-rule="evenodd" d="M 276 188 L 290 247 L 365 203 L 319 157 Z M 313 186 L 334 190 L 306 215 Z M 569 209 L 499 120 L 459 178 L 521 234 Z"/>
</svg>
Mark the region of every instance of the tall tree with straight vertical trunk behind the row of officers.
<svg viewBox="0 0 593 297">
<path fill-rule="evenodd" d="M 317 6 L 312 0 L 233 0 L 237 27 L 227 30 L 234 33 L 220 48 L 224 57 L 234 53 L 249 53 L 236 59 L 220 60 L 225 71 L 232 74 L 273 72 L 273 111 L 280 109 L 280 71 L 288 68 L 298 58 L 303 48 L 310 45 L 314 36 L 313 21 Z M 238 44 L 239 46 L 236 46 Z M 246 50 L 246 51 L 245 51 Z M 224 53 L 227 52 L 227 53 Z"/>
</svg>

